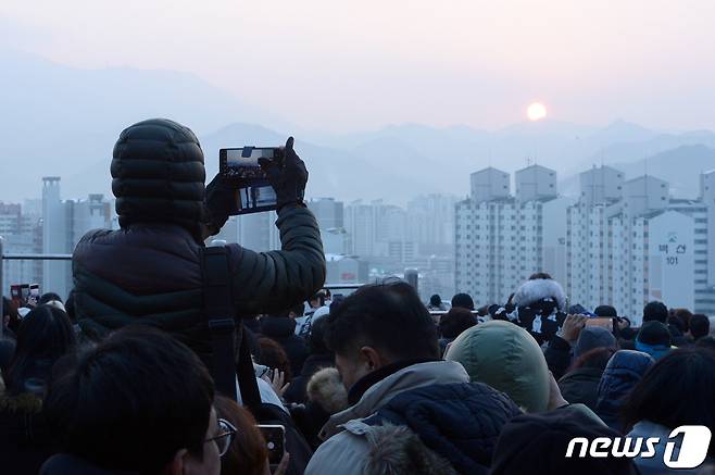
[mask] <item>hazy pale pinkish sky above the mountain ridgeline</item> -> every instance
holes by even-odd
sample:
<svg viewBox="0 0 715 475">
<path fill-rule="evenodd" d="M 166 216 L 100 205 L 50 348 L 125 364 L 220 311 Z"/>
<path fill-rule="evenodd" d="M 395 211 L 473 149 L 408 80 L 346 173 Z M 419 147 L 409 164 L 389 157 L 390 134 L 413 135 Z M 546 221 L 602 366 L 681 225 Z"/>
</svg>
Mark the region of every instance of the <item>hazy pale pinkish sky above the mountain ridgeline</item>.
<svg viewBox="0 0 715 475">
<path fill-rule="evenodd" d="M 2 0 L 0 45 L 188 71 L 304 127 L 715 128 L 715 2 Z M 247 121 L 248 122 L 248 121 Z"/>
</svg>

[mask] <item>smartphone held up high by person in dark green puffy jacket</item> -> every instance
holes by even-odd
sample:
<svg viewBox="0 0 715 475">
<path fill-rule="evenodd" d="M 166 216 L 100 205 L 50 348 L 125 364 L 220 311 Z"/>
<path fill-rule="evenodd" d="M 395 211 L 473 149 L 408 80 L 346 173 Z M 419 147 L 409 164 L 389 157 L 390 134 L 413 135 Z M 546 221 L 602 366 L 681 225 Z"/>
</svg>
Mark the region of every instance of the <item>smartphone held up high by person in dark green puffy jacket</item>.
<svg viewBox="0 0 715 475">
<path fill-rule="evenodd" d="M 277 160 L 280 165 L 284 150 L 279 147 L 241 147 L 218 151 L 218 171 L 235 188 L 230 214 L 250 214 L 278 208 L 276 192 L 259 159 Z"/>
</svg>

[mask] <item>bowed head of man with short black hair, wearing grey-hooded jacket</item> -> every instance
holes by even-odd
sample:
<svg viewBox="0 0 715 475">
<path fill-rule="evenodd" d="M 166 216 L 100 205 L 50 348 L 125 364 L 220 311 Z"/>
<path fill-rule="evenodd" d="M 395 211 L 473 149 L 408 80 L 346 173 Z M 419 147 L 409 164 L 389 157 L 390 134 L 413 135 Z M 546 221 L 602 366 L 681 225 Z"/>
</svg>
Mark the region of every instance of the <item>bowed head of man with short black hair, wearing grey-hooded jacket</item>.
<svg viewBox="0 0 715 475">
<path fill-rule="evenodd" d="M 406 283 L 361 287 L 327 318 L 325 342 L 346 388 L 390 363 L 439 359 L 437 326 Z"/>
</svg>

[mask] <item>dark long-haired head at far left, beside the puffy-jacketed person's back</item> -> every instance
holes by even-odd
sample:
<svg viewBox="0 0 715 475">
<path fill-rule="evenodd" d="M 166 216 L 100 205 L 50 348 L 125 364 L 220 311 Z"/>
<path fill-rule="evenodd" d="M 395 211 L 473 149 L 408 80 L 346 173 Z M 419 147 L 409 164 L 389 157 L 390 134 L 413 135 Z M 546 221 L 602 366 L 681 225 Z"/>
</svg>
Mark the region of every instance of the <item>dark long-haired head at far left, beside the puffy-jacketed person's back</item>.
<svg viewBox="0 0 715 475">
<path fill-rule="evenodd" d="M 17 328 L 15 354 L 5 383 L 11 393 L 25 391 L 29 378 L 50 384 L 52 366 L 74 351 L 77 340 L 67 315 L 53 307 L 39 305 L 23 318 Z"/>
</svg>

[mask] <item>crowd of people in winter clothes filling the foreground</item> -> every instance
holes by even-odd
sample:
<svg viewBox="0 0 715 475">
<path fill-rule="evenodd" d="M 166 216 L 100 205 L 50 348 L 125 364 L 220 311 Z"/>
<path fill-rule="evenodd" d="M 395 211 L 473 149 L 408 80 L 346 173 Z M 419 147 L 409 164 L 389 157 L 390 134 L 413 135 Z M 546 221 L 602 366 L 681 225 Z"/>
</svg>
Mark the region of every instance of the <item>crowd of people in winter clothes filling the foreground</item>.
<svg viewBox="0 0 715 475">
<path fill-rule="evenodd" d="M 425 304 L 402 280 L 321 290 L 291 139 L 286 158 L 262 165 L 281 250 L 210 251 L 231 191 L 204 189 L 193 134 L 165 120 L 122 133 L 122 229 L 81 239 L 66 300 L 3 300 L 2 473 L 661 474 L 686 451 L 674 429 L 715 429 L 705 315 L 591 311 L 544 273 L 479 308 Z M 566 457 L 574 438 L 624 437 L 657 438 L 655 457 Z M 715 442 L 703 457 L 685 472 L 715 472 Z"/>
</svg>

